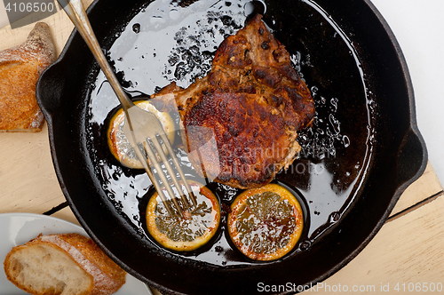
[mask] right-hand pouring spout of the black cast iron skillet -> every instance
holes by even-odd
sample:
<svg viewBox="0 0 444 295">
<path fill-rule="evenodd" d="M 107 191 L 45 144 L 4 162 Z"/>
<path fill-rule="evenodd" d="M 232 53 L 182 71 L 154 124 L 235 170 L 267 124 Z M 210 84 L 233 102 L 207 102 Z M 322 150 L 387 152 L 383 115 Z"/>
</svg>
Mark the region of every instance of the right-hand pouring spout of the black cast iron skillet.
<svg viewBox="0 0 444 295">
<path fill-rule="evenodd" d="M 396 180 L 402 190 L 424 173 L 427 160 L 427 148 L 421 133 L 410 128 L 401 142 L 397 159 Z"/>
</svg>

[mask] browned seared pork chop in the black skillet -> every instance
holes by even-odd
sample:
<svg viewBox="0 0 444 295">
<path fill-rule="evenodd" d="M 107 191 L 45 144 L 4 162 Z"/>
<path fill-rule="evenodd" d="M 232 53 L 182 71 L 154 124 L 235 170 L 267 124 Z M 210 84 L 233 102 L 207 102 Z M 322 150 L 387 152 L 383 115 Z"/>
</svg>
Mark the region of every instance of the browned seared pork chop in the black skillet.
<svg viewBox="0 0 444 295">
<path fill-rule="evenodd" d="M 244 189 L 265 185 L 293 163 L 300 151 L 297 131 L 314 115 L 289 52 L 261 19 L 257 15 L 219 45 L 207 76 L 152 96 L 160 108 L 178 108 L 196 170 Z"/>
</svg>

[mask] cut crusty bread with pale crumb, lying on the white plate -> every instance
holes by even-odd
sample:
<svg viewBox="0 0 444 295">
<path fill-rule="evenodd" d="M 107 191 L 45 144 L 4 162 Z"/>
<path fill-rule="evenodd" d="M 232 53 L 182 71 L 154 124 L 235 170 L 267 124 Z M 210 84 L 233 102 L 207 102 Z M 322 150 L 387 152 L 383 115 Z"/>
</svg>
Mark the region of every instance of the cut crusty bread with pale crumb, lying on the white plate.
<svg viewBox="0 0 444 295">
<path fill-rule="evenodd" d="M 39 235 L 12 248 L 4 273 L 34 295 L 112 294 L 126 275 L 90 238 L 78 234 Z"/>
</svg>

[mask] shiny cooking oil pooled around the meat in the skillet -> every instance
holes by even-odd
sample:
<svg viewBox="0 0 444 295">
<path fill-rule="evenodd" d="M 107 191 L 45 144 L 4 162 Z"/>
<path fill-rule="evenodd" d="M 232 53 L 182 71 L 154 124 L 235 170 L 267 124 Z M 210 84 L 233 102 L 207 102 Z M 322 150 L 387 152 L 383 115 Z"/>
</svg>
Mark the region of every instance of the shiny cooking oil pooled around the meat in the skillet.
<svg viewBox="0 0 444 295">
<path fill-rule="evenodd" d="M 196 77 L 205 76 L 218 44 L 243 27 L 246 11 L 265 12 L 266 25 L 285 44 L 293 67 L 312 91 L 316 108 L 313 125 L 299 132 L 299 158 L 275 179 L 297 196 L 304 209 L 305 229 L 289 254 L 296 255 L 320 240 L 329 228 L 340 226 L 341 217 L 359 196 L 372 152 L 372 110 L 359 57 L 341 29 L 311 1 L 280 4 L 281 8 L 274 4 L 272 10 L 266 1 L 155 1 L 126 25 L 107 56 L 126 90 L 147 98 L 172 81 L 186 87 Z M 91 92 L 87 125 L 91 146 L 97 151 L 92 163 L 108 201 L 130 220 L 142 240 L 154 243 L 144 224 L 151 182 L 144 171 L 118 163 L 104 140 L 108 120 L 118 106 L 100 72 Z M 175 119 L 178 123 L 178 117 Z M 193 177 L 178 134 L 176 143 L 176 154 L 187 175 Z M 209 187 L 222 207 L 218 235 L 199 251 L 165 252 L 219 266 L 253 263 L 235 250 L 226 234 L 226 211 L 240 190 L 217 183 Z"/>
</svg>

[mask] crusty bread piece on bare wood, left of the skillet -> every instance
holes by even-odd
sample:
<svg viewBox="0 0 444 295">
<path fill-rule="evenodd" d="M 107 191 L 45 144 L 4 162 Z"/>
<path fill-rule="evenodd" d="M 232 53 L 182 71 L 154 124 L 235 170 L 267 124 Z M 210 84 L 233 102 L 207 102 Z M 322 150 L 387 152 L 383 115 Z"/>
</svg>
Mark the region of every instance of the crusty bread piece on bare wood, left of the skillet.
<svg viewBox="0 0 444 295">
<path fill-rule="evenodd" d="M 20 46 L 0 52 L 0 132 L 40 132 L 39 76 L 55 60 L 50 29 L 38 22 Z"/>
</svg>

